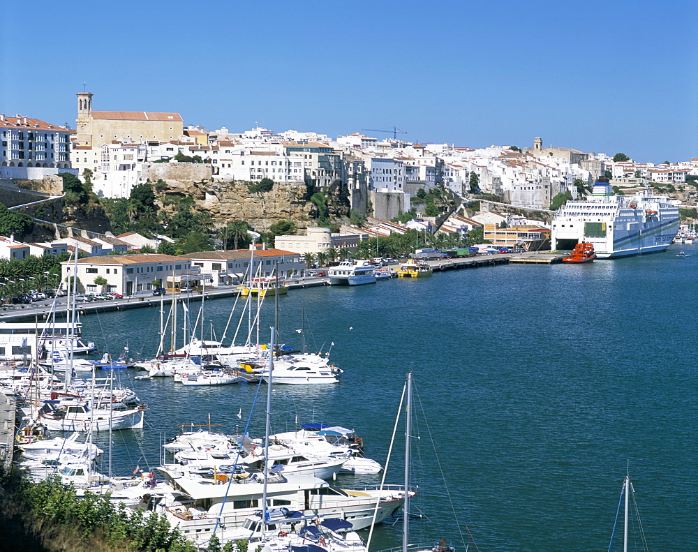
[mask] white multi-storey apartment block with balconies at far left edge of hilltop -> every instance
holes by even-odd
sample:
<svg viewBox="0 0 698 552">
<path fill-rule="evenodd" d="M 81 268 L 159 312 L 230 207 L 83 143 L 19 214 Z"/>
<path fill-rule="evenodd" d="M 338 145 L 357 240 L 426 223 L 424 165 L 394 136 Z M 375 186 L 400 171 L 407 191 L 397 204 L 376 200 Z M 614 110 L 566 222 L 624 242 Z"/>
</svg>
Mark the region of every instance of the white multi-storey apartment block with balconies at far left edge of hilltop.
<svg viewBox="0 0 698 552">
<path fill-rule="evenodd" d="M 77 174 L 70 164 L 70 129 L 23 115 L 0 113 L 0 178 L 41 180 Z"/>
</svg>

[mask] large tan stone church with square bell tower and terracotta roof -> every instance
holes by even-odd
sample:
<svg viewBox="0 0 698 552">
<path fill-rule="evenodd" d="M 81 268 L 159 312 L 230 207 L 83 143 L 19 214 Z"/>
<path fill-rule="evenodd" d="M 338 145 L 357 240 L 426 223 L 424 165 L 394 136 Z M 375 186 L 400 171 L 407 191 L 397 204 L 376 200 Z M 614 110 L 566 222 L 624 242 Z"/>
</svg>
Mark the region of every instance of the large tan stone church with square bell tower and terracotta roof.
<svg viewBox="0 0 698 552">
<path fill-rule="evenodd" d="M 77 94 L 77 146 L 98 148 L 116 140 L 126 143 L 169 142 L 184 134 L 179 113 L 93 111 L 92 94 Z"/>
</svg>

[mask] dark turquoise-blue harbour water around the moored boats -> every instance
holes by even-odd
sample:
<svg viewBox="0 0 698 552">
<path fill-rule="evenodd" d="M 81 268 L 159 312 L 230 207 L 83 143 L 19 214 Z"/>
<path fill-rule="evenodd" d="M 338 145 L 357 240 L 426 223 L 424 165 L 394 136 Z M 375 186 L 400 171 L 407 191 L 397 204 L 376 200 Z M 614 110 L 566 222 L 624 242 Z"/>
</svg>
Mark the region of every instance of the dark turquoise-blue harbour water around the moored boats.
<svg viewBox="0 0 698 552">
<path fill-rule="evenodd" d="M 331 358 L 344 373 L 329 387 L 274 386 L 272 429 L 290 430 L 296 417 L 356 428 L 366 456 L 383 463 L 413 371 L 413 511 L 426 516 L 413 521 L 413 540 L 447 537 L 463 552 L 473 546 L 467 525 L 482 552 L 606 550 L 629 465 L 650 549 L 698 549 L 698 247 L 682 247 L 687 258 L 668 251 L 291 290 L 279 298 L 281 341 L 300 345 L 305 308 L 309 348 L 334 342 Z M 207 336 L 209 320 L 221 336 L 232 302 L 207 302 Z M 271 302 L 262 318 L 266 340 Z M 84 335 L 112 353 L 156 349 L 155 308 L 83 322 Z M 256 391 L 184 388 L 170 378 L 128 384 L 151 410 L 143 431 L 114 433 L 116 475 L 157 465 L 177 424 L 211 415 L 216 428 L 242 431 Z M 255 436 L 265 393 L 253 411 Z M 387 482 L 403 480 L 402 433 Z M 371 548 L 399 544 L 400 525 L 377 530 Z"/>
</svg>

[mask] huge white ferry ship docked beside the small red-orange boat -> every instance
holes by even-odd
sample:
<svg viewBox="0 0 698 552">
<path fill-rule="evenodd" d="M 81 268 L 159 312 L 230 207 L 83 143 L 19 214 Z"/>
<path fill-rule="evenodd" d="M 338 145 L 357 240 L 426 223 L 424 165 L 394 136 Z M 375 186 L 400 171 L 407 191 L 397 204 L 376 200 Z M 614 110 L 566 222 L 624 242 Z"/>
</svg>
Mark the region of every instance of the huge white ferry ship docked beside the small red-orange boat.
<svg viewBox="0 0 698 552">
<path fill-rule="evenodd" d="M 679 222 L 678 206 L 665 195 L 614 195 L 609 184 L 597 182 L 591 199 L 560 207 L 551 246 L 572 249 L 586 242 L 600 259 L 658 253 L 671 244 Z"/>
</svg>

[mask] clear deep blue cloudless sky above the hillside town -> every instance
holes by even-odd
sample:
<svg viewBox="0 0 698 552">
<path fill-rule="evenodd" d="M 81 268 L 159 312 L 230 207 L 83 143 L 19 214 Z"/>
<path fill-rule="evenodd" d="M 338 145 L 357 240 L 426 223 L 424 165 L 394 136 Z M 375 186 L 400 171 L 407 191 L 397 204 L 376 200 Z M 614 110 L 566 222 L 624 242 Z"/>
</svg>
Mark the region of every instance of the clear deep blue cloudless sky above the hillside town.
<svg viewBox="0 0 698 552">
<path fill-rule="evenodd" d="M 698 2 L 0 2 L 0 112 L 698 157 Z M 367 133 L 378 137 L 388 133 Z"/>
</svg>

